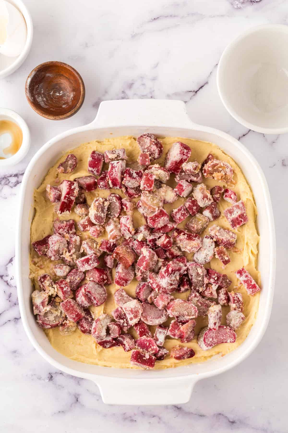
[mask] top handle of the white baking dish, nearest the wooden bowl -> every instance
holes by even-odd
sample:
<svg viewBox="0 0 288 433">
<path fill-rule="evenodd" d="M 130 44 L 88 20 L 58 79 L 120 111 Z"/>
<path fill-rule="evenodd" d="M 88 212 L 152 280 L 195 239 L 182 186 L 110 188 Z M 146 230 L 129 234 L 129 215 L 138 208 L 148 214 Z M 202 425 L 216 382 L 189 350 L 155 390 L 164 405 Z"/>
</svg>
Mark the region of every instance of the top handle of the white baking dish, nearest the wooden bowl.
<svg viewBox="0 0 288 433">
<path fill-rule="evenodd" d="M 125 99 L 101 102 L 90 126 L 174 126 L 194 128 L 183 101 Z"/>
</svg>

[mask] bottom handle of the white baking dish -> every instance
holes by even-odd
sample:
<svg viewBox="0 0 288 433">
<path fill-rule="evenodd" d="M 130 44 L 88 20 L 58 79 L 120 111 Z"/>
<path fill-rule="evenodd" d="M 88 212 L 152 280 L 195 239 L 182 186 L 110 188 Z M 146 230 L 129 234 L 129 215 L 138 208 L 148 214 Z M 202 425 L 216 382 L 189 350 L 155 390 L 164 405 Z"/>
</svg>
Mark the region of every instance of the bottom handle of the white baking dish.
<svg viewBox="0 0 288 433">
<path fill-rule="evenodd" d="M 196 380 L 186 378 L 127 380 L 106 377 L 97 380 L 107 404 L 183 404 L 190 400 Z"/>
</svg>

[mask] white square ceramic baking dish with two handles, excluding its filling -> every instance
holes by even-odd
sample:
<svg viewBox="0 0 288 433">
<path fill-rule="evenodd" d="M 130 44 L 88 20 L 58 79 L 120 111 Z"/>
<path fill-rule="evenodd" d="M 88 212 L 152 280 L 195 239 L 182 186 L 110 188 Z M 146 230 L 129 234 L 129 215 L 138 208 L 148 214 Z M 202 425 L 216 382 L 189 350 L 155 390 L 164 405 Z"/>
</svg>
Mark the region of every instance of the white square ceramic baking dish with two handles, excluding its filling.
<svg viewBox="0 0 288 433">
<path fill-rule="evenodd" d="M 130 134 L 133 130 L 138 128 L 139 133 L 140 131 L 150 131 L 158 133 L 158 135 L 163 135 L 163 132 L 166 134 L 167 132 L 165 131 L 169 131 L 168 133 L 171 132 L 171 136 L 174 136 L 173 132 L 177 131 L 180 131 L 182 136 L 193 136 L 195 138 L 197 138 L 197 135 L 203 133 L 205 133 L 206 136 L 213 135 L 215 139 L 218 137 L 219 141 L 223 140 L 223 142 L 229 142 L 231 145 L 231 150 L 233 150 L 235 156 L 238 154 L 241 155 L 243 164 L 244 160 L 246 159 L 247 163 L 249 161 L 249 164 L 253 165 L 253 170 L 255 171 L 256 175 L 256 182 L 259 182 L 259 194 L 261 194 L 261 191 L 263 193 L 263 209 L 265 207 L 265 215 L 263 216 L 264 223 L 267 220 L 265 226 L 265 232 L 267 233 L 264 235 L 263 230 L 263 239 L 266 239 L 267 245 L 269 245 L 269 248 L 264 250 L 264 255 L 267 256 L 265 262 L 269 264 L 269 270 L 267 270 L 267 279 L 265 281 L 265 286 L 263 285 L 263 293 L 260 296 L 260 305 L 262 305 L 261 317 L 258 314 L 256 323 L 252 327 L 244 343 L 242 343 L 237 349 L 222 359 L 215 359 L 207 361 L 203 364 L 189 365 L 187 367 L 145 372 L 139 370 L 107 368 L 82 364 L 60 355 L 52 348 L 44 333 L 37 327 L 36 324 L 34 326 L 35 319 L 31 309 L 31 302 L 25 306 L 25 291 L 23 290 L 23 281 L 27 287 L 27 291 L 29 290 L 29 294 L 26 294 L 26 297 L 30 297 L 31 283 L 27 281 L 29 272 L 28 269 L 25 267 L 22 268 L 22 262 L 25 260 L 22 258 L 22 256 L 24 257 L 24 255 L 27 255 L 29 250 L 29 245 L 27 245 L 27 243 L 30 242 L 27 233 L 25 234 L 25 229 L 27 231 L 29 228 L 31 218 L 30 220 L 28 216 L 25 216 L 24 218 L 24 208 L 25 202 L 27 202 L 26 207 L 30 207 L 32 204 L 32 197 L 26 197 L 26 191 L 29 187 L 29 182 L 34 182 L 35 184 L 34 179 L 37 175 L 37 162 L 39 162 L 41 157 L 44 157 L 44 155 L 46 156 L 46 159 L 48 159 L 47 152 L 49 152 L 49 149 L 52 149 L 54 145 L 55 148 L 57 148 L 54 151 L 55 155 L 53 157 L 54 161 L 56 161 L 60 155 L 60 148 L 57 143 L 62 140 L 64 142 L 65 139 L 70 139 L 70 137 L 79 132 L 85 133 L 92 131 L 93 137 L 95 134 L 96 139 L 97 132 L 99 135 L 101 134 L 101 131 L 103 132 L 104 130 L 103 134 L 108 136 L 108 131 L 117 131 L 119 128 L 121 130 L 130 130 Z M 119 136 L 119 134 L 117 133 L 115 136 Z M 81 141 L 77 145 L 79 144 L 81 144 Z M 76 147 L 76 145 L 74 147 Z M 220 145 L 220 147 L 223 146 Z M 72 148 L 73 146 L 71 149 Z M 67 147 L 66 145 L 65 151 L 68 149 L 69 146 Z M 237 160 L 237 158 L 235 159 Z M 50 167 L 50 165 L 47 165 L 47 168 L 48 167 Z M 37 183 L 37 186 L 38 184 L 39 182 Z M 35 349 L 54 367 L 59 368 L 68 374 L 94 381 L 100 388 L 101 396 L 105 403 L 185 403 L 189 400 L 193 386 L 198 380 L 202 378 L 209 378 L 213 375 L 225 372 L 226 370 L 237 365 L 255 349 L 266 330 L 272 307 L 275 281 L 275 229 L 272 205 L 264 174 L 253 155 L 251 155 L 244 145 L 242 145 L 236 139 L 228 136 L 228 134 L 225 134 L 224 132 L 205 126 L 198 126 L 191 122 L 187 115 L 185 105 L 182 101 L 122 100 L 102 102 L 98 110 L 98 115 L 92 123 L 64 132 L 54 137 L 54 139 L 51 139 L 36 153 L 25 171 L 21 187 L 19 220 L 16 230 L 16 276 L 19 307 L 25 331 Z M 31 323 L 29 323 L 29 320 L 31 320 Z M 34 330 L 32 330 L 32 327 L 34 327 Z M 37 334 L 37 336 L 35 334 Z M 191 371 L 193 371 L 193 373 L 191 373 Z M 153 388 L 151 388 L 151 386 L 153 386 Z M 155 392 L 151 393 L 151 389 L 155 390 Z"/>
</svg>

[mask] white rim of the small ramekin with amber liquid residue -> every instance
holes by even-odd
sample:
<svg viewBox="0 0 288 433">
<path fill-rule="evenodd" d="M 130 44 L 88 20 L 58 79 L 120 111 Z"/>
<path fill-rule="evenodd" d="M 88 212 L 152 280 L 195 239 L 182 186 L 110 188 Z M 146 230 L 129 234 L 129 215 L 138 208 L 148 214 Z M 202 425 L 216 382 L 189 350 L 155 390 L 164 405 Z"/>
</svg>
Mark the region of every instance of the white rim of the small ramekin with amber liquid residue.
<svg viewBox="0 0 288 433">
<path fill-rule="evenodd" d="M 13 110 L 8 110 L 8 108 L 0 108 L 0 121 L 1 120 L 11 120 L 12 122 L 17 123 L 19 128 L 22 129 L 23 140 L 20 149 L 15 155 L 10 156 L 10 158 L 0 159 L 0 168 L 17 164 L 26 156 L 30 148 L 30 131 L 27 123 L 21 116 L 19 116 L 19 114 Z"/>
</svg>

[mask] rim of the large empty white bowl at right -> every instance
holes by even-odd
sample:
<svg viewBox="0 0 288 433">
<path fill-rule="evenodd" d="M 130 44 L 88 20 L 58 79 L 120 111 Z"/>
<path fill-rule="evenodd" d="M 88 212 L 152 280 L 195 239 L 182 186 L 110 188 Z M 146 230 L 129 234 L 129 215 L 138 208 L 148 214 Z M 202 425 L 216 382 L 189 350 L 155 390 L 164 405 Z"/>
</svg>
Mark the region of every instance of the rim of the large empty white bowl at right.
<svg viewBox="0 0 288 433">
<path fill-rule="evenodd" d="M 252 131 L 261 132 L 262 134 L 285 134 L 288 132 L 288 126 L 282 127 L 282 128 L 263 128 L 261 126 L 254 125 L 253 123 L 247 122 L 247 120 L 243 119 L 242 116 L 239 116 L 237 112 L 234 110 L 231 103 L 228 102 L 228 100 L 223 96 L 222 93 L 222 84 L 221 84 L 221 74 L 222 74 L 222 67 L 229 57 L 231 55 L 231 52 L 235 49 L 237 44 L 242 40 L 245 39 L 248 35 L 253 35 L 253 33 L 258 32 L 259 30 L 263 29 L 276 29 L 281 30 L 287 34 L 288 32 L 288 26 L 285 26 L 284 24 L 261 24 L 260 26 L 253 26 L 252 28 L 246 30 L 245 32 L 241 33 L 240 36 L 237 36 L 232 42 L 230 42 L 225 50 L 222 53 L 222 56 L 218 63 L 217 68 L 217 75 L 216 75 L 216 81 L 217 81 L 217 88 L 218 93 L 220 96 L 220 99 L 222 100 L 222 103 L 229 114 L 231 114 L 232 117 L 234 117 L 237 122 L 241 123 L 241 125 L 246 126 L 248 129 L 251 129 Z M 225 79 L 225 77 L 223 77 Z"/>
</svg>

